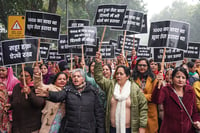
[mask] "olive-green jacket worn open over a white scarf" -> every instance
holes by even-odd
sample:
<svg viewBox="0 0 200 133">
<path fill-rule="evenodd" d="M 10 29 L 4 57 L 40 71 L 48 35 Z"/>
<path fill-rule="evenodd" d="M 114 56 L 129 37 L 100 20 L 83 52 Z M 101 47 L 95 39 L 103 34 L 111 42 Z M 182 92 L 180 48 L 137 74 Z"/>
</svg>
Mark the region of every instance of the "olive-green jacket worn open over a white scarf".
<svg viewBox="0 0 200 133">
<path fill-rule="evenodd" d="M 103 69 L 101 63 L 95 63 L 94 78 L 96 83 L 106 92 L 106 133 L 110 132 L 110 103 L 113 96 L 116 80 L 106 79 L 103 77 Z M 140 91 L 139 86 L 131 81 L 131 133 L 138 133 L 139 128 L 147 126 L 147 100 Z"/>
</svg>

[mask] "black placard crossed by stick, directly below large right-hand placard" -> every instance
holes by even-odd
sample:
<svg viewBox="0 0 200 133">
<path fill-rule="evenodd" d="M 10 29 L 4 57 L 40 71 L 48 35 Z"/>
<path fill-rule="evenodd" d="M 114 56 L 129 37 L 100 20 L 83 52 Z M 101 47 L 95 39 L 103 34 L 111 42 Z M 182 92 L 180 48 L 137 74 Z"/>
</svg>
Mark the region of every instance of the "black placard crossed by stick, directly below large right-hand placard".
<svg viewBox="0 0 200 133">
<path fill-rule="evenodd" d="M 154 48 L 154 61 L 162 62 L 164 48 Z M 179 49 L 166 48 L 165 62 L 183 60 L 183 51 Z"/>
</svg>

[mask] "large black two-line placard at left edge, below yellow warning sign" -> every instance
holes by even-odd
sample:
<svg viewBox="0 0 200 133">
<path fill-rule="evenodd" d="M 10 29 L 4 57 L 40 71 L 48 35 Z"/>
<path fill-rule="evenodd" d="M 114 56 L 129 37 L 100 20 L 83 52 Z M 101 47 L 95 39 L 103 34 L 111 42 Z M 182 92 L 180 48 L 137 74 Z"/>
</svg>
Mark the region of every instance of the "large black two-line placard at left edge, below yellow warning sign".
<svg viewBox="0 0 200 133">
<path fill-rule="evenodd" d="M 38 39 L 2 41 L 3 64 L 32 63 L 37 58 Z"/>
</svg>

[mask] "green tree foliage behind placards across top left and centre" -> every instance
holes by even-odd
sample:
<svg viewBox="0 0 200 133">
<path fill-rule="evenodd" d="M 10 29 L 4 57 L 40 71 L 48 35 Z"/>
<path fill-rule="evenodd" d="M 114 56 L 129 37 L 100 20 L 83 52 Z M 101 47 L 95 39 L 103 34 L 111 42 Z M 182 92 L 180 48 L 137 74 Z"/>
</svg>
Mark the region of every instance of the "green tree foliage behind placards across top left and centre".
<svg viewBox="0 0 200 133">
<path fill-rule="evenodd" d="M 126 4 L 127 9 L 146 12 L 143 0 L 57 0 L 56 13 L 61 16 L 61 33 L 67 33 L 68 19 L 89 19 L 93 25 L 96 10 L 100 4 Z M 0 0 L 0 23 L 7 28 L 9 15 L 25 15 L 26 10 L 48 11 L 49 0 Z M 67 12 L 66 12 L 67 11 Z M 98 28 L 101 37 L 103 28 Z M 121 32 L 106 30 L 104 40 L 117 39 Z"/>
</svg>

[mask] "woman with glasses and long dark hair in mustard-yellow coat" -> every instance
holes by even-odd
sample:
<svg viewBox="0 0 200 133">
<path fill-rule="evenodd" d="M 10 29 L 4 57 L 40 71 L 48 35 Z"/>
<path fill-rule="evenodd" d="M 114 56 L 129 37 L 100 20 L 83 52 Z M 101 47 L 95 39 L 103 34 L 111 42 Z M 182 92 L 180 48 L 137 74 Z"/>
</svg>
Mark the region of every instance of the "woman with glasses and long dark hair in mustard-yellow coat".
<svg viewBox="0 0 200 133">
<path fill-rule="evenodd" d="M 133 79 L 140 86 L 148 101 L 148 122 L 145 133 L 156 133 L 158 131 L 158 112 L 157 105 L 151 101 L 151 95 L 157 85 L 157 80 L 146 58 L 137 60 Z"/>
</svg>

